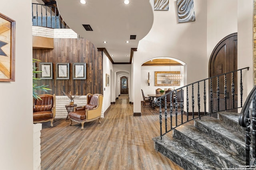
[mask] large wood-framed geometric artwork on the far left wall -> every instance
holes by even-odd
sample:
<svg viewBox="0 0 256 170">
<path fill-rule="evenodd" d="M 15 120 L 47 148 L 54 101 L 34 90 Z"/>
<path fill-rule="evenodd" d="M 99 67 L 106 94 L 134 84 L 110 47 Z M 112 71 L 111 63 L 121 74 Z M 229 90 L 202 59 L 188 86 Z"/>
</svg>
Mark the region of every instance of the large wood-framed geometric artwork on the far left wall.
<svg viewBox="0 0 256 170">
<path fill-rule="evenodd" d="M 0 82 L 15 81 L 15 21 L 0 13 Z"/>
</svg>

